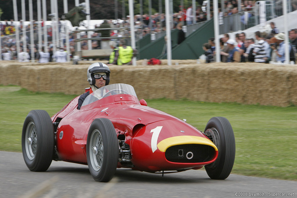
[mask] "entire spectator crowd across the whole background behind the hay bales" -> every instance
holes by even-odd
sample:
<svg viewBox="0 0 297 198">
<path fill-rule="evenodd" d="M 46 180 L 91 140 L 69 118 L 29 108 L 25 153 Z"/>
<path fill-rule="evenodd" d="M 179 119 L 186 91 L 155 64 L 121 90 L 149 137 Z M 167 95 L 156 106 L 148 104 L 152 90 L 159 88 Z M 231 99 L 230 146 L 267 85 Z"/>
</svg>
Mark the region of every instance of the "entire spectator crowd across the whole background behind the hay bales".
<svg viewBox="0 0 297 198">
<path fill-rule="evenodd" d="M 224 7 L 219 9 L 219 16 L 228 16 L 238 13 L 238 8 L 240 10 L 249 12 L 245 17 L 252 17 L 252 13 L 255 9 L 255 0 L 244 0 L 241 1 L 241 5 L 238 5 L 237 0 L 226 0 L 224 1 Z M 220 7 L 220 6 L 219 6 Z M 292 6 L 293 10 L 297 9 L 297 6 Z M 224 12 L 222 12 L 224 11 Z M 213 7 L 210 6 L 210 18 L 213 16 Z M 207 20 L 207 12 L 205 5 L 198 5 L 196 7 L 195 14 L 193 15 L 192 7 L 189 6 L 187 9 L 180 8 L 180 11 L 173 14 L 173 28 L 177 28 L 179 31 L 178 35 L 178 44 L 185 40 L 185 35 L 183 34 L 182 26 L 190 25 L 193 23 L 193 19 L 195 18 L 196 22 L 206 21 Z M 126 37 L 129 37 L 129 26 L 130 26 L 130 18 L 124 18 L 123 20 L 104 20 L 104 22 L 100 25 L 95 26 L 95 28 L 99 29 L 98 31 L 92 32 L 91 37 L 94 40 L 91 40 L 91 48 L 92 49 L 102 49 L 102 40 L 98 40 L 97 38 L 109 37 L 106 40 L 113 40 L 115 43 L 112 46 L 128 45 L 128 40 Z M 144 15 L 135 15 L 134 16 L 135 23 L 135 35 L 138 39 L 143 38 L 146 34 L 165 32 L 165 14 L 164 13 L 155 13 L 151 16 L 148 14 Z M 242 23 L 244 23 L 244 18 L 242 18 Z M 22 34 L 23 28 L 22 22 L 20 23 L 20 54 L 17 54 L 16 50 L 16 39 L 15 39 L 15 23 L 13 20 L 4 21 L 0 23 L 1 28 L 1 48 L 2 48 L 2 59 L 3 60 L 16 60 L 18 56 L 20 57 L 20 61 L 30 61 L 33 55 L 31 55 L 31 46 L 30 44 L 30 24 L 26 27 L 26 34 Z M 274 23 L 271 23 L 272 31 L 267 32 L 255 32 L 253 38 L 246 38 L 244 32 L 240 34 L 236 34 L 235 39 L 230 39 L 229 34 L 224 34 L 224 37 L 220 39 L 221 46 L 221 61 L 222 62 L 283 62 L 284 61 L 284 34 L 279 33 L 277 27 L 275 27 Z M 44 26 L 44 22 L 42 21 L 42 27 Z M 127 27 L 126 29 L 117 29 L 117 30 L 106 30 L 102 28 L 119 28 L 119 27 Z M 75 55 L 75 39 L 77 39 L 77 34 L 72 32 L 69 34 L 69 45 L 70 51 L 66 51 L 66 43 L 65 43 L 65 34 L 64 27 L 62 23 L 59 21 L 59 32 L 61 36 L 61 46 L 60 48 L 56 48 L 53 50 L 54 46 L 52 42 L 53 31 L 51 26 L 47 27 L 47 38 L 49 40 L 47 46 L 48 49 L 45 50 L 45 45 L 42 44 L 40 48 L 38 48 L 38 32 L 37 32 L 37 23 L 34 23 L 34 59 L 37 59 L 39 62 L 64 62 L 67 54 L 70 54 L 70 57 Z M 102 30 L 100 30 L 102 29 Z M 291 29 L 289 32 L 290 37 L 290 59 L 293 61 L 296 54 L 296 37 L 297 37 L 297 29 Z M 43 35 L 44 36 L 44 35 Z M 110 39 L 110 37 L 123 37 L 124 39 Z M 81 38 L 87 38 L 87 34 L 81 34 Z M 27 46 L 26 51 L 23 46 L 24 41 L 26 40 Z M 43 40 L 43 39 L 42 39 Z M 82 50 L 88 50 L 88 41 L 82 40 L 80 42 Z M 135 54 L 135 49 L 134 54 Z M 215 43 L 214 38 L 210 38 L 208 43 L 203 44 L 203 50 L 205 51 L 205 55 L 207 57 L 206 62 L 212 62 L 215 58 Z M 47 52 L 45 52 L 47 51 Z M 56 53 L 54 53 L 56 51 Z M 61 58 L 63 56 L 63 58 Z M 115 56 L 118 56 L 115 51 Z M 134 56 L 134 55 L 133 55 Z M 294 59 L 295 61 L 295 59 Z"/>
</svg>

